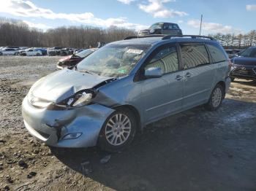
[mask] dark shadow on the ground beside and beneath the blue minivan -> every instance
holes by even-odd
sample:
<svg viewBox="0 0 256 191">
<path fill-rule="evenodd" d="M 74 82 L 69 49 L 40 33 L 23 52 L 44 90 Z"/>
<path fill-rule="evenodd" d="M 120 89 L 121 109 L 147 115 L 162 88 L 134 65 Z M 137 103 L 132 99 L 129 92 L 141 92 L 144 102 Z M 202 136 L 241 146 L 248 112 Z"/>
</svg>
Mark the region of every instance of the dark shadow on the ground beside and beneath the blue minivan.
<svg viewBox="0 0 256 191">
<path fill-rule="evenodd" d="M 154 122 L 124 152 L 52 149 L 62 163 L 114 190 L 254 190 L 256 104 L 225 99 Z M 100 160 L 110 157 L 108 163 Z"/>
</svg>

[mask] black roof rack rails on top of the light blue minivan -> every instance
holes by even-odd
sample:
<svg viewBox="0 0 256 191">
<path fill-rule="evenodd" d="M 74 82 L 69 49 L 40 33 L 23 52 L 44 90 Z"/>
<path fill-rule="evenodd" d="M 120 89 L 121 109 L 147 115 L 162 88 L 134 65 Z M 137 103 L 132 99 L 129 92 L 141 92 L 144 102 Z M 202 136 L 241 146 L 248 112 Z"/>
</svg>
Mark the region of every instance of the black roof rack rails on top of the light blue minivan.
<svg viewBox="0 0 256 191">
<path fill-rule="evenodd" d="M 182 38 L 182 37 L 190 37 L 191 39 L 210 39 L 215 40 L 211 36 L 199 36 L 199 35 L 165 35 L 165 34 L 150 34 L 145 36 L 127 36 L 124 40 L 128 39 L 140 39 L 140 38 L 148 38 L 148 37 L 162 37 L 162 40 L 167 40 L 171 38 Z"/>
</svg>

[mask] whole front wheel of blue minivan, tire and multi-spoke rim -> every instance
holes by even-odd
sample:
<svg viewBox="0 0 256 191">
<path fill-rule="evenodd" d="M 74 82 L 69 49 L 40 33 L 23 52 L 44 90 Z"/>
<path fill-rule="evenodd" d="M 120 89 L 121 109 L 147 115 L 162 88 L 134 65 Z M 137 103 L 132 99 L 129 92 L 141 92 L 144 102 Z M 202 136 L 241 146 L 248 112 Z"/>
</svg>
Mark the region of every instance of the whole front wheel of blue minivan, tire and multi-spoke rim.
<svg viewBox="0 0 256 191">
<path fill-rule="evenodd" d="M 118 109 L 105 120 L 99 134 L 98 146 L 110 152 L 127 147 L 135 137 L 137 123 L 128 109 Z"/>
</svg>

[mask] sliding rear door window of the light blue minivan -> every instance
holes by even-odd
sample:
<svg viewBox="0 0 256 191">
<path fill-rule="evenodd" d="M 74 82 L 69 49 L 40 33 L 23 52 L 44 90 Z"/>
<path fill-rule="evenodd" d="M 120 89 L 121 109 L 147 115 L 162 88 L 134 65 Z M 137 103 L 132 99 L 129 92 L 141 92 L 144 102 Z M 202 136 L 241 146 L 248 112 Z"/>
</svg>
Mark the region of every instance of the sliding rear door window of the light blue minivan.
<svg viewBox="0 0 256 191">
<path fill-rule="evenodd" d="M 184 69 L 190 69 L 210 63 L 208 52 L 204 45 L 181 45 Z"/>
</svg>

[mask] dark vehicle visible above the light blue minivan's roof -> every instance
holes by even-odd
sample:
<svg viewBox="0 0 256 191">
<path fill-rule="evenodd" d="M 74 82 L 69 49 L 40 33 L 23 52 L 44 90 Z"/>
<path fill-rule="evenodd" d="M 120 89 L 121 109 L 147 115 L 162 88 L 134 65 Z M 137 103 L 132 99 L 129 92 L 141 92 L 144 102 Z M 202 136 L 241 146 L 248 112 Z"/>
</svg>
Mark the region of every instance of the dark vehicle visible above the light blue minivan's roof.
<svg viewBox="0 0 256 191">
<path fill-rule="evenodd" d="M 148 29 L 140 30 L 138 32 L 138 36 L 150 34 L 182 35 L 182 31 L 176 23 L 155 23 Z"/>
</svg>

